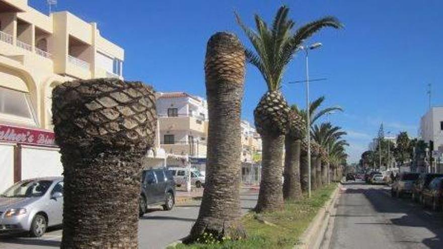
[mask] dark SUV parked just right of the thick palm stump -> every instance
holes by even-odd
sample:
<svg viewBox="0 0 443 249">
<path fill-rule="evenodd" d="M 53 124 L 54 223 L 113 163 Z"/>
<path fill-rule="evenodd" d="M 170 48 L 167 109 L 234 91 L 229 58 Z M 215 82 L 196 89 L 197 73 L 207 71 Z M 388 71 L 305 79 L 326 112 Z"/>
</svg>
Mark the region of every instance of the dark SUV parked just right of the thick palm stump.
<svg viewBox="0 0 443 249">
<path fill-rule="evenodd" d="M 146 213 L 149 205 L 162 205 L 163 210 L 171 210 L 174 207 L 175 182 L 166 168 L 143 171 L 138 203 L 140 217 Z"/>
</svg>

